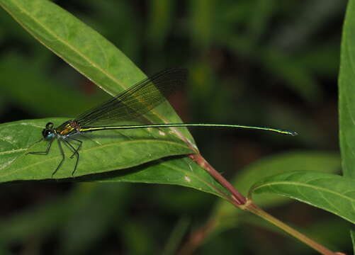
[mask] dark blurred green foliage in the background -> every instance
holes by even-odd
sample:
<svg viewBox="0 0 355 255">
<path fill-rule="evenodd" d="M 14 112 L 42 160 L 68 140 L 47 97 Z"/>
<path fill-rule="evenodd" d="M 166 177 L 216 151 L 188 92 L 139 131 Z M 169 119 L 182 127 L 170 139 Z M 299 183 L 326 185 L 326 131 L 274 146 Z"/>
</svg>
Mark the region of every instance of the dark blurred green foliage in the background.
<svg viewBox="0 0 355 255">
<path fill-rule="evenodd" d="M 276 126 L 300 134 L 191 130 L 201 153 L 227 178 L 278 152 L 338 151 L 336 81 L 345 1 L 55 2 L 146 74 L 188 68 L 188 86 L 169 98 L 184 121 Z M 108 98 L 4 10 L 0 23 L 1 123 L 70 118 Z M 123 183 L 9 183 L 0 186 L 0 196 L 4 254 L 174 254 L 169 247 L 204 225 L 218 200 L 184 187 Z M 350 249 L 350 241 L 344 242 L 349 232 L 344 222 L 334 223 L 334 215 L 300 203 L 271 210 L 305 232 L 322 234 L 337 250 Z M 252 216 L 236 217 L 240 225 L 215 232 L 196 254 L 315 254 L 271 234 L 274 229 L 259 219 L 255 224 Z M 325 225 L 332 226 L 329 235 L 315 230 Z"/>
</svg>

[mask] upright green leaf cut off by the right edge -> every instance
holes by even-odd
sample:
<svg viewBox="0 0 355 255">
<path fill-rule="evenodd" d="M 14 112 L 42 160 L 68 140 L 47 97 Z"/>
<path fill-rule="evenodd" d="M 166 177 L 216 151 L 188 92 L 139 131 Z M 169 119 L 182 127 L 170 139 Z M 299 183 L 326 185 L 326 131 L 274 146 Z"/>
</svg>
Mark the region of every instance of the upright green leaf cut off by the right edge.
<svg viewBox="0 0 355 255">
<path fill-rule="evenodd" d="M 355 178 L 355 1 L 346 8 L 339 73 L 339 140 L 344 176 Z"/>
</svg>

